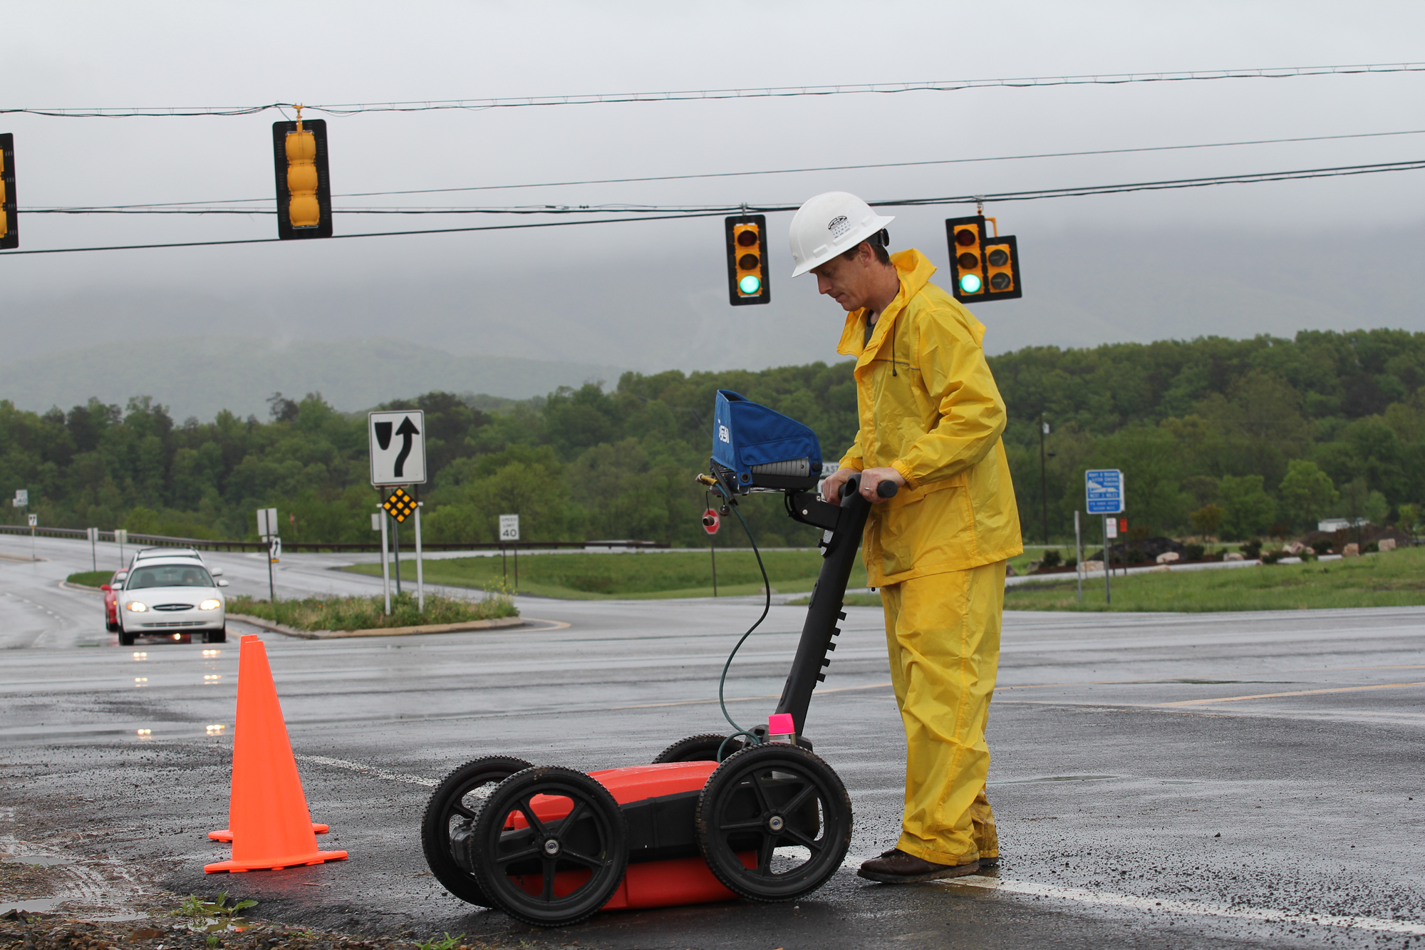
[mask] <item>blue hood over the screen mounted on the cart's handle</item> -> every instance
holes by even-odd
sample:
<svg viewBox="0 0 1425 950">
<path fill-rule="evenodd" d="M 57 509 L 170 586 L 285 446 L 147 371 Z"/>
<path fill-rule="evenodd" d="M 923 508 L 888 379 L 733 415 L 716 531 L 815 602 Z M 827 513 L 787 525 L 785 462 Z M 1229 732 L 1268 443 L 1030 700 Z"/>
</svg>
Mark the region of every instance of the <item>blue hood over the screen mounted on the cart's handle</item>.
<svg viewBox="0 0 1425 950">
<path fill-rule="evenodd" d="M 712 412 L 712 468 L 730 489 L 809 489 L 821 479 L 821 442 L 801 422 L 717 391 Z"/>
</svg>

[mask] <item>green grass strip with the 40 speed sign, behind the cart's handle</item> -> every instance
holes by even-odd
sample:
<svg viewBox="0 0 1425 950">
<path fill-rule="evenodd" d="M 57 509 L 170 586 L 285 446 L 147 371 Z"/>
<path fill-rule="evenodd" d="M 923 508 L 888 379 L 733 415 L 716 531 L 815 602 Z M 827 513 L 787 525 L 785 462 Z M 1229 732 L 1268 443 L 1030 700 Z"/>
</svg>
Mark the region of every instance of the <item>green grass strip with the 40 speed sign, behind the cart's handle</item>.
<svg viewBox="0 0 1425 950">
<path fill-rule="evenodd" d="M 772 589 L 779 593 L 811 591 L 821 571 L 821 552 L 764 551 L 762 562 Z M 380 576 L 379 563 L 345 568 Z M 507 571 L 507 575 L 506 575 Z M 415 561 L 402 558 L 403 579 L 416 576 Z M 499 586 L 504 578 L 514 586 L 514 558 L 449 558 L 425 562 L 426 583 L 463 588 Z M 520 593 L 571 601 L 708 598 L 712 596 L 712 565 L 707 551 L 660 551 L 641 553 L 542 553 L 520 555 Z M 851 586 L 865 586 L 866 572 L 859 559 Z M 721 596 L 757 593 L 762 575 L 751 551 L 717 552 L 717 592 Z"/>
</svg>

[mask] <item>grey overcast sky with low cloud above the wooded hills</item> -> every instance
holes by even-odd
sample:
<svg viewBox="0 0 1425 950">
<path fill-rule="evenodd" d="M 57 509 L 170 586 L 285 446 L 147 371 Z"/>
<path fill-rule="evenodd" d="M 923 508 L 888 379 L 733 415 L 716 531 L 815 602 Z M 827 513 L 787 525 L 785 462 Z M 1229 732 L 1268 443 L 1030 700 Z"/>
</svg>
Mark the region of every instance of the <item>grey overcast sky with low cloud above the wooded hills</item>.
<svg viewBox="0 0 1425 950">
<path fill-rule="evenodd" d="M 1425 60 L 1421 3 L 60 3 L 4 4 L 6 107 L 361 103 Z M 741 101 L 326 116 L 338 194 L 989 158 L 1425 128 L 1425 73 Z M 268 111 L 0 116 L 21 207 L 272 198 Z M 1415 158 L 1425 136 L 916 168 L 529 187 L 338 204 L 799 203 Z M 1425 171 L 990 204 L 1025 297 L 985 304 L 986 348 L 1295 330 L 1425 330 Z M 943 220 L 892 248 L 945 267 Z M 623 365 L 832 358 L 839 308 L 789 280 L 727 304 L 720 218 L 288 241 L 0 261 L 3 357 L 127 337 L 361 339 Z M 470 217 L 338 215 L 338 233 Z M 272 215 L 23 218 L 23 247 L 271 237 Z M 948 282 L 948 275 L 942 271 Z M 0 392 L 0 397 L 9 394 Z"/>
</svg>

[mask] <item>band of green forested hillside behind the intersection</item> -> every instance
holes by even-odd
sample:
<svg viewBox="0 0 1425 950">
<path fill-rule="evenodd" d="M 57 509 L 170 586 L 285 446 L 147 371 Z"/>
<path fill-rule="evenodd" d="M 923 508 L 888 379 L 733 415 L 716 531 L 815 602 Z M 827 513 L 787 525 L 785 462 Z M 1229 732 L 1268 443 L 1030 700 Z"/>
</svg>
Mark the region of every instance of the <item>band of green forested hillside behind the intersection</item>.
<svg viewBox="0 0 1425 950">
<path fill-rule="evenodd" d="M 1027 541 L 1043 533 L 1040 414 L 1052 538 L 1072 533 L 1090 466 L 1124 469 L 1130 522 L 1167 533 L 1284 533 L 1335 514 L 1411 528 L 1425 501 L 1425 334 L 1032 347 L 990 365 Z M 701 543 L 691 476 L 718 388 L 807 422 L 828 458 L 855 435 L 849 362 L 630 372 L 499 409 L 443 392 L 386 408 L 426 411 L 432 541 L 493 541 L 496 516 L 519 512 L 529 539 Z M 178 424 L 145 398 L 43 415 L 0 402 L 0 496 L 27 488 L 44 525 L 241 538 L 252 509 L 275 505 L 289 541 L 369 539 L 365 414 L 318 394 L 271 407 Z M 762 543 L 808 542 L 779 506 L 747 508 Z"/>
</svg>

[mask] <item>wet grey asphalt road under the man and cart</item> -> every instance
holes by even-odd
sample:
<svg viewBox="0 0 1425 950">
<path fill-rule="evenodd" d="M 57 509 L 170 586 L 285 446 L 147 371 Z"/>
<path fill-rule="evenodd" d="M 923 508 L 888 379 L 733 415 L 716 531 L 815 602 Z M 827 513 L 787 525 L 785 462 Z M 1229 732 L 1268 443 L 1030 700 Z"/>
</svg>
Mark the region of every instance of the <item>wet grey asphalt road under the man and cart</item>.
<svg viewBox="0 0 1425 950">
<path fill-rule="evenodd" d="M 0 555 L 28 549 L 0 538 Z M 903 737 L 879 611 L 852 608 L 808 726 L 852 795 L 849 869 L 798 904 L 610 913 L 539 931 L 472 910 L 425 873 L 416 827 L 430 785 L 480 755 L 597 769 L 724 729 L 717 673 L 757 616 L 751 602 L 522 599 L 527 618 L 549 623 L 321 642 L 261 633 L 314 817 L 332 824 L 319 840 L 351 860 L 215 879 L 201 867 L 227 856 L 205 833 L 227 819 L 237 643 L 120 649 L 98 596 L 58 586 L 88 569 L 88 546 L 40 539 L 38 553 L 50 561 L 0 558 L 0 850 L 78 854 L 138 887 L 227 887 L 256 897 L 266 917 L 422 940 L 767 950 L 1425 940 L 1425 609 L 1006 615 L 989 733 L 1003 864 L 895 889 L 854 874 L 895 840 Z M 265 593 L 259 558 L 209 559 L 234 592 Z M 286 558 L 279 593 L 379 586 L 326 569 L 338 561 Z M 774 705 L 801 616 L 774 608 L 734 666 L 730 709 L 744 725 Z M 239 632 L 254 630 L 234 623 Z"/>
</svg>

